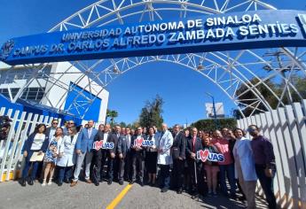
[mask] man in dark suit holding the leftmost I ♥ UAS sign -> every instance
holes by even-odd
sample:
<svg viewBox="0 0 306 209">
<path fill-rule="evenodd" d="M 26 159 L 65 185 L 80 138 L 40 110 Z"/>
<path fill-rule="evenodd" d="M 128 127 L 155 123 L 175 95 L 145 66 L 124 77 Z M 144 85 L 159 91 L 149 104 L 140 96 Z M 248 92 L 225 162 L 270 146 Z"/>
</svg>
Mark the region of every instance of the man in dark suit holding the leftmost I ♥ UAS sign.
<svg viewBox="0 0 306 209">
<path fill-rule="evenodd" d="M 98 131 L 98 134 L 95 136 L 94 141 L 103 141 L 103 143 L 111 142 L 114 141 L 111 139 L 114 137 L 114 135 L 110 132 L 111 127 L 109 124 L 106 124 L 104 126 L 103 131 Z M 105 149 L 100 149 L 98 151 L 94 150 L 94 155 L 96 159 L 96 166 L 97 166 L 97 180 L 95 181 L 95 185 L 98 186 L 99 182 L 102 182 L 103 177 L 104 177 L 104 166 L 106 165 L 106 158 L 109 154 L 108 150 Z"/>
</svg>

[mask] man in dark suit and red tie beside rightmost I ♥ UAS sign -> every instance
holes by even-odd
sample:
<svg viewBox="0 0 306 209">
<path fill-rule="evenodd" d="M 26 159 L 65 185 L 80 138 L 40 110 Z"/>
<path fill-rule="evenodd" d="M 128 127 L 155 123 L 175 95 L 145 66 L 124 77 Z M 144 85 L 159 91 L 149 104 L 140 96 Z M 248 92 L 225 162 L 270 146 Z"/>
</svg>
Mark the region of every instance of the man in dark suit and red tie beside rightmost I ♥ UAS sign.
<svg viewBox="0 0 306 209">
<path fill-rule="evenodd" d="M 198 129 L 192 128 L 192 135 L 187 140 L 186 144 L 186 155 L 187 155 L 187 165 L 188 170 L 190 172 L 191 181 L 192 181 L 192 195 L 198 195 L 200 185 L 200 170 L 202 166 L 202 162 L 197 159 L 197 151 L 203 150 L 203 145 L 201 143 L 200 138 L 198 135 Z M 197 177 L 197 181 L 196 178 Z"/>
</svg>

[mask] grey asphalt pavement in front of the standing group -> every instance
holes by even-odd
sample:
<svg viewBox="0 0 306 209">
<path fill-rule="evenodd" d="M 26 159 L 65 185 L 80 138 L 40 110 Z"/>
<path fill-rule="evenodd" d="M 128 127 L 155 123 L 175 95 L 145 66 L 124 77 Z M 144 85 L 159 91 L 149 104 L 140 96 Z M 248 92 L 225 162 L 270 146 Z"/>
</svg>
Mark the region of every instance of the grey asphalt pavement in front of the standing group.
<svg viewBox="0 0 306 209">
<path fill-rule="evenodd" d="M 23 188 L 18 182 L 0 183 L 0 208 L 106 208 L 115 197 L 125 188 L 118 183 L 107 185 L 102 182 L 98 187 L 85 182 L 78 182 L 74 188 L 69 184 L 59 187 L 53 183 L 42 187 L 35 182 L 33 186 Z M 263 201 L 263 200 L 261 200 Z M 266 208 L 261 201 L 257 201 L 258 208 Z M 158 188 L 149 186 L 140 187 L 133 184 L 116 208 L 245 208 L 245 205 L 225 197 L 204 197 L 203 200 L 194 200 L 190 195 L 177 195 L 169 190 L 161 193 Z"/>
</svg>

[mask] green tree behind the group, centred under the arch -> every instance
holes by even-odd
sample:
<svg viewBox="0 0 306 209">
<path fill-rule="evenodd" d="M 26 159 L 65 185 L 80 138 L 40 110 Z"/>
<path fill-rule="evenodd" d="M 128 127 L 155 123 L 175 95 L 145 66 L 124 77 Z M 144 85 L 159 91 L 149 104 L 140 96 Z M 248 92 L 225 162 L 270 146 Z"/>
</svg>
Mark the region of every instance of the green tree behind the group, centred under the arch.
<svg viewBox="0 0 306 209">
<path fill-rule="evenodd" d="M 139 115 L 139 125 L 146 128 L 152 126 L 161 128 L 161 124 L 163 122 L 161 115 L 163 103 L 164 102 L 159 95 L 156 95 L 151 102 L 146 101 L 145 107 L 141 109 Z"/>
</svg>

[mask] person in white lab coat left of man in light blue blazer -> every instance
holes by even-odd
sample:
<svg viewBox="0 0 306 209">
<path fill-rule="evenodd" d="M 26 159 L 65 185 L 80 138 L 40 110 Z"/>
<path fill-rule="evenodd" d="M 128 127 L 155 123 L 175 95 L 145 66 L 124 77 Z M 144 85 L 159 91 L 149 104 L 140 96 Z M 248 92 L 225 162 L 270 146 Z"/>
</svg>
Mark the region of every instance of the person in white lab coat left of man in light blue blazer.
<svg viewBox="0 0 306 209">
<path fill-rule="evenodd" d="M 76 128 L 69 128 L 68 135 L 65 135 L 63 142 L 59 146 L 59 157 L 57 166 L 59 168 L 59 186 L 65 182 L 69 183 L 72 176 L 72 169 L 75 166 L 75 143 L 77 140 Z"/>
</svg>

